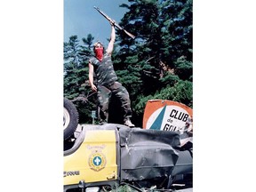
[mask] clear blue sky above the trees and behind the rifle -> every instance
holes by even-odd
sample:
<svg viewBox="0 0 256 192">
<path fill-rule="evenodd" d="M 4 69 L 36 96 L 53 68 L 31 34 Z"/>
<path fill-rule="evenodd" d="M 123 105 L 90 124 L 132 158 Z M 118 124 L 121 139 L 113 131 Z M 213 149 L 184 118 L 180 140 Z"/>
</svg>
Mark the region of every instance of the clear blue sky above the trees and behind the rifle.
<svg viewBox="0 0 256 192">
<path fill-rule="evenodd" d="M 110 36 L 109 22 L 93 7 L 99 7 L 118 23 L 128 11 L 119 7 L 120 4 L 129 4 L 129 2 L 128 0 L 64 0 L 64 42 L 68 42 L 69 37 L 74 35 L 81 41 L 91 33 L 94 41 L 100 40 L 106 44 Z"/>
</svg>

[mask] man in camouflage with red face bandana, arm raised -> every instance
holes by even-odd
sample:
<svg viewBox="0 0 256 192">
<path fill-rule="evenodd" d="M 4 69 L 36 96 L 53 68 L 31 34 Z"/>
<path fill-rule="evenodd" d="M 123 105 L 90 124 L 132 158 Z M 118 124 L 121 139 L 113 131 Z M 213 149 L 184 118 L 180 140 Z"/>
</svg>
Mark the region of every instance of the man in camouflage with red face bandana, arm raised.
<svg viewBox="0 0 256 192">
<path fill-rule="evenodd" d="M 129 93 L 122 84 L 117 82 L 116 72 L 111 60 L 111 53 L 116 40 L 116 30 L 114 22 L 110 22 L 110 25 L 111 36 L 106 53 L 104 54 L 104 47 L 99 41 L 93 45 L 95 56 L 89 60 L 89 83 L 92 91 L 97 92 L 100 104 L 100 124 L 108 123 L 108 104 L 113 93 L 122 103 L 124 125 L 134 127 L 131 122 L 132 108 Z"/>
</svg>

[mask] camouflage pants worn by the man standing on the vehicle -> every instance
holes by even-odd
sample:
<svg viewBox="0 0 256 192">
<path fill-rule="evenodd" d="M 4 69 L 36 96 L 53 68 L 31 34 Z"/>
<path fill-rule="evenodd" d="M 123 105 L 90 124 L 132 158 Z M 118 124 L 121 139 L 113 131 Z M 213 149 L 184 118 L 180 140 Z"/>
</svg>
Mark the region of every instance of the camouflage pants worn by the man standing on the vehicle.
<svg viewBox="0 0 256 192">
<path fill-rule="evenodd" d="M 99 112 L 101 122 L 108 122 L 108 104 L 112 94 L 116 95 L 116 98 L 121 101 L 122 108 L 124 110 L 124 120 L 132 117 L 131 100 L 129 93 L 119 82 L 114 82 L 108 85 L 98 85 L 98 100 L 99 100 Z"/>
</svg>

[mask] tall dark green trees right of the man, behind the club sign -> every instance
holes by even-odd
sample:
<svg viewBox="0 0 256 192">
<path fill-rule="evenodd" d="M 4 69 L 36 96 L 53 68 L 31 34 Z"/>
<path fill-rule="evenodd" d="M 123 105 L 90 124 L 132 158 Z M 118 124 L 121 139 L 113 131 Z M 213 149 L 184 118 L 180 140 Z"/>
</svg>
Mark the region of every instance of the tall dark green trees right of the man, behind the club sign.
<svg viewBox="0 0 256 192">
<path fill-rule="evenodd" d="M 192 107 L 192 1 L 129 2 L 121 5 L 128 11 L 120 25 L 129 28 L 136 38 L 120 33 L 121 52 L 117 57 L 126 69 L 120 74 L 125 76 L 122 80 L 129 78 L 133 108 L 136 113 L 143 113 L 146 101 L 156 98 Z M 137 78 L 133 76 L 135 72 L 139 74 Z M 138 82 L 138 89 L 132 89 L 131 84 Z"/>
</svg>

